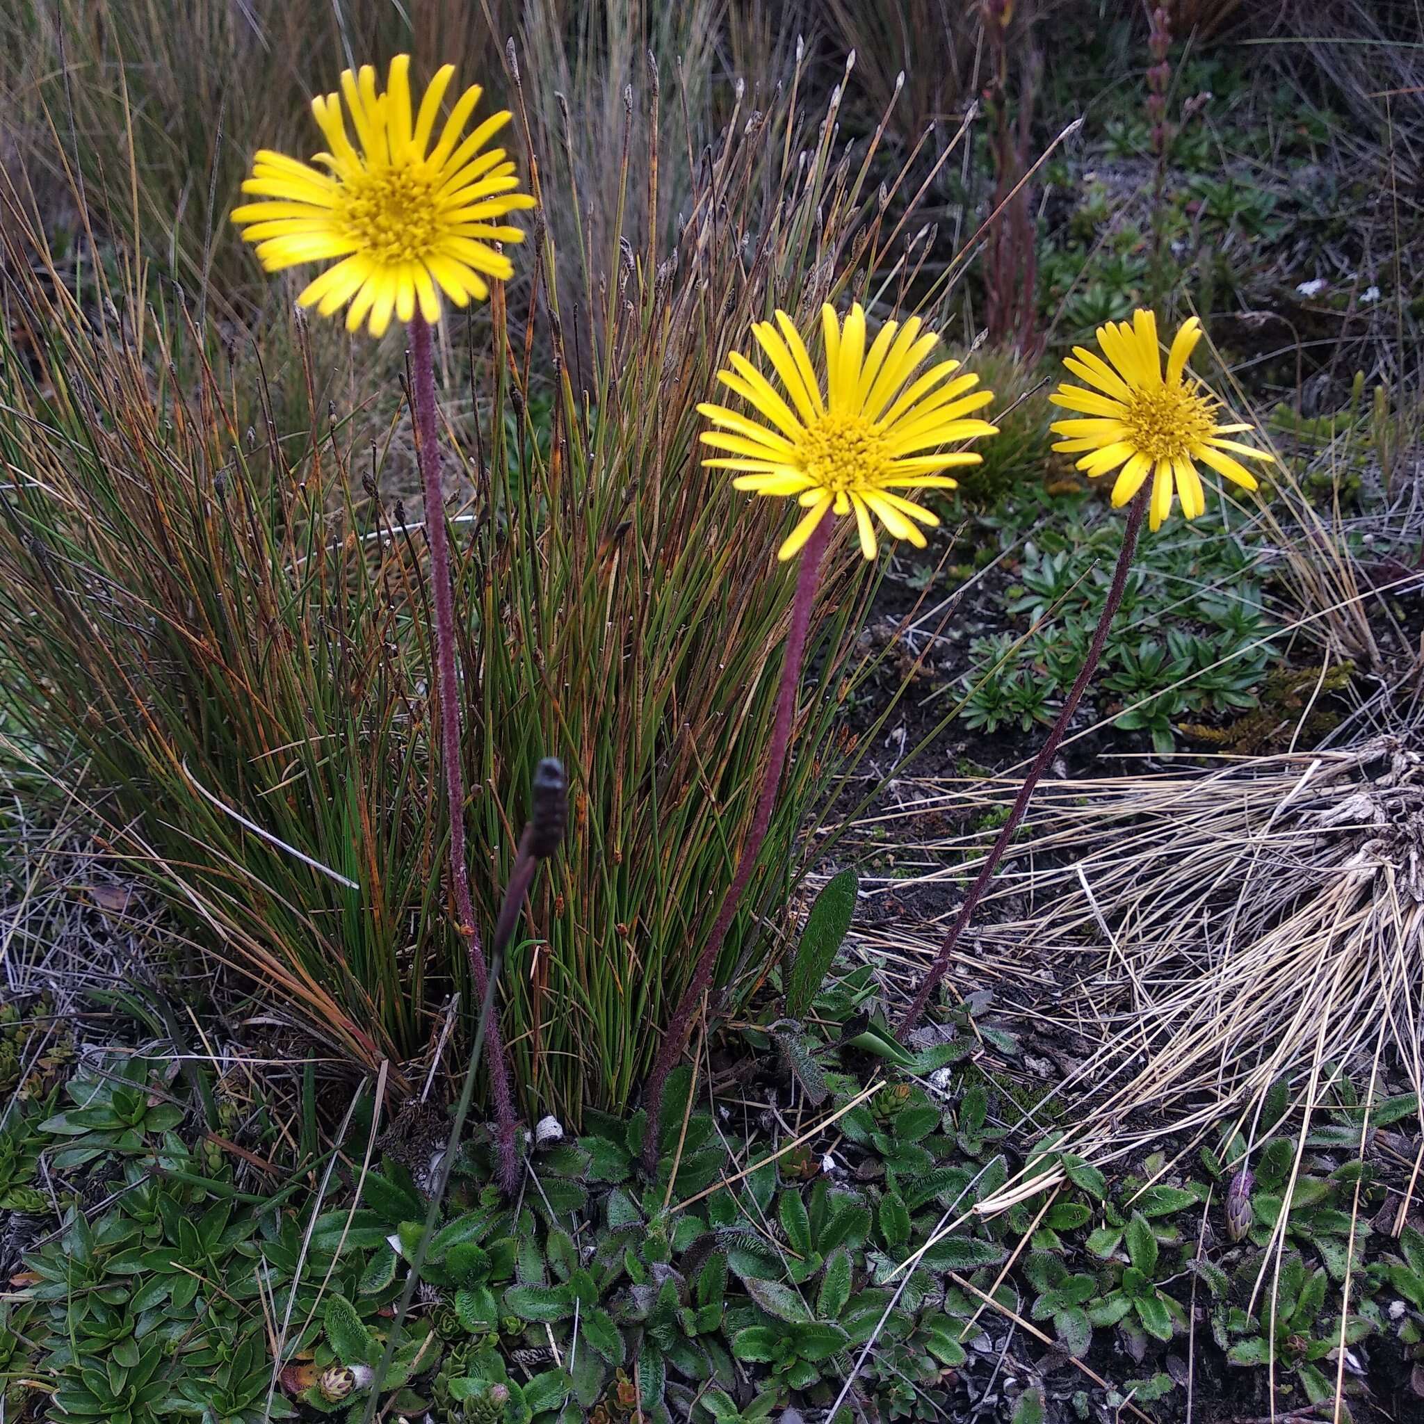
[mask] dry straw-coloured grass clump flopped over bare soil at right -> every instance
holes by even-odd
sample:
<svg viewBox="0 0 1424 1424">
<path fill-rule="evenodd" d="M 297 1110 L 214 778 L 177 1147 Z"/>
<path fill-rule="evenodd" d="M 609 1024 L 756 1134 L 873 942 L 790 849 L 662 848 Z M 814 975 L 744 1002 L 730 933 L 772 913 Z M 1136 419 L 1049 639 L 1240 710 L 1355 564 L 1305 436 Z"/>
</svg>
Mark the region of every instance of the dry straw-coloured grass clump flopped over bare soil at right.
<svg viewBox="0 0 1424 1424">
<path fill-rule="evenodd" d="M 1067 1085 L 1092 1094 L 1079 1141 L 1121 1155 L 1250 1121 L 1280 1079 L 1309 1118 L 1326 1064 L 1393 1064 L 1424 1088 L 1424 758 L 1407 738 L 1072 790 L 1037 849 L 1101 849 L 1034 877 L 1032 936 L 1088 958 L 1065 1002 L 1104 1044 Z"/>
</svg>

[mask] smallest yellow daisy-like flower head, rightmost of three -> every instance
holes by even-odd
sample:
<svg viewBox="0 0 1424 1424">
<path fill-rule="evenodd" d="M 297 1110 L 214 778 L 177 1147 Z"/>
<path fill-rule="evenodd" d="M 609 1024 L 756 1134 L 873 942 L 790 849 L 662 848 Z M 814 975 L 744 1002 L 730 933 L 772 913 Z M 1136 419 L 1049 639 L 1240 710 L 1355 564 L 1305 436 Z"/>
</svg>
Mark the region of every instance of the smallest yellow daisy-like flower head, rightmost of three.
<svg viewBox="0 0 1424 1424">
<path fill-rule="evenodd" d="M 1074 355 L 1064 359 L 1092 389 L 1062 384 L 1048 397 L 1088 417 L 1055 422 L 1054 434 L 1067 439 L 1054 449 L 1071 454 L 1087 450 L 1078 468 L 1089 476 L 1119 470 L 1112 486 L 1115 506 L 1126 504 L 1152 476 L 1152 528 L 1161 528 L 1172 513 L 1173 488 L 1189 520 L 1206 510 L 1198 460 L 1243 490 L 1255 490 L 1256 477 L 1235 456 L 1273 459 L 1265 450 L 1225 439 L 1253 427 L 1219 426 L 1220 403 L 1186 373 L 1186 360 L 1200 339 L 1202 323 L 1192 316 L 1172 337 L 1163 375 L 1152 312 L 1138 310 L 1131 322 L 1108 322 L 1098 328 L 1098 345 L 1108 360 L 1084 346 L 1075 346 Z"/>
</svg>

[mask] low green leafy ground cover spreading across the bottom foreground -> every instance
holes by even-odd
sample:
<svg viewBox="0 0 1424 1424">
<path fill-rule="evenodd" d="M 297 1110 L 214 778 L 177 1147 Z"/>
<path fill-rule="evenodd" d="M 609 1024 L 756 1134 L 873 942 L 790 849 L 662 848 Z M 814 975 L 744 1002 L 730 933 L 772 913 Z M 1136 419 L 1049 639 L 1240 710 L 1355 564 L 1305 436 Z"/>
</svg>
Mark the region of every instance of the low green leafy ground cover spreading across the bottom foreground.
<svg viewBox="0 0 1424 1424">
<path fill-rule="evenodd" d="M 1111 1410 L 1179 1388 L 1168 1356 L 1193 1303 L 1209 1321 L 1196 1347 L 1252 1387 L 1272 1364 L 1282 1407 L 1333 1397 L 1323 1361 L 1341 1331 L 1424 1354 L 1424 1239 L 1408 1229 L 1371 1249 L 1398 1182 L 1360 1152 L 1413 1119 L 1414 1095 L 1367 1101 L 1327 1067 L 1304 1134 L 1282 1084 L 1259 1135 L 1223 1132 L 1198 1171 L 1158 1153 L 1109 1178 L 1061 1132 L 1038 1135 L 1037 1101 L 1014 1085 L 1020 1044 L 987 994 L 926 1049 L 867 1014 L 864 967 L 834 967 L 853 899 L 849 874 L 823 890 L 742 1030 L 792 1042 L 789 1077 L 819 1088 L 826 1126 L 805 1151 L 755 1119 L 718 1121 L 682 1068 L 656 1128 L 590 1111 L 582 1134 L 535 1146 L 515 1202 L 494 1185 L 491 1145 L 460 1143 L 423 1250 L 430 1203 L 394 1159 L 323 1195 L 315 1125 L 285 1149 L 265 1132 L 255 1145 L 295 1151 L 295 1172 L 253 1192 L 235 1159 L 197 1151 L 198 1115 L 165 1101 L 162 1065 L 98 1061 L 66 1085 L 84 1106 L 41 1122 L 30 1105 L 17 1119 L 26 1161 L 81 1148 L 64 1179 L 84 1199 L 105 1190 L 90 1210 L 58 1200 L 26 1256 L 0 1341 L 7 1404 L 43 1386 L 54 1417 L 74 1421 L 359 1424 L 375 1405 L 501 1424 L 639 1411 L 723 1424 L 824 1408 L 857 1370 L 853 1408 L 930 1420 L 971 1347 L 1018 1316 L 1064 1358 L 1105 1340 L 1125 1351 L 1138 1374 L 1094 1391 Z M 201 1114 L 201 1072 L 197 1087 Z M 134 1121 L 157 1108 L 168 1111 Z M 75 1121 L 85 1112 L 98 1115 Z M 975 1210 L 1020 1171 L 1055 1185 Z M 397 1319 L 422 1257 L 417 1304 Z M 1030 1413 L 1014 1417 L 1032 1405 L 1025 1390 L 1014 1408 Z"/>
</svg>

